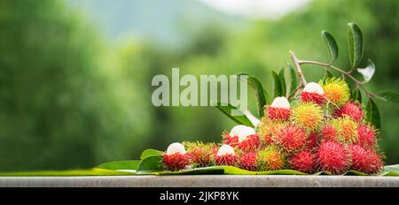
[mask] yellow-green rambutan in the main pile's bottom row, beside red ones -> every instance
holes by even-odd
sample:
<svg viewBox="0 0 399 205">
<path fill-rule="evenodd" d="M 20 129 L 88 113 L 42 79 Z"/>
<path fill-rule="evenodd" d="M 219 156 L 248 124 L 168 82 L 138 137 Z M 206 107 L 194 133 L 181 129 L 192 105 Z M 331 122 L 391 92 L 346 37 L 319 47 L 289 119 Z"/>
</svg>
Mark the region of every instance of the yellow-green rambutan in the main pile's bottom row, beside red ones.
<svg viewBox="0 0 399 205">
<path fill-rule="evenodd" d="M 269 146 L 258 153 L 256 164 L 260 171 L 281 170 L 285 166 L 285 156 L 279 148 Z"/>
</svg>

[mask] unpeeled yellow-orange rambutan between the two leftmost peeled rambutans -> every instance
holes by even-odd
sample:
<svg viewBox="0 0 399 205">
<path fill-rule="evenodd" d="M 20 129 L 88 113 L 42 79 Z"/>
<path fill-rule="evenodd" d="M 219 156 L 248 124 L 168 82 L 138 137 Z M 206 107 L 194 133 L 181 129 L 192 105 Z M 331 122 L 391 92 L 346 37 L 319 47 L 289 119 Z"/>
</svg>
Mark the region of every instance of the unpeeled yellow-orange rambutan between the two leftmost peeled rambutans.
<svg viewBox="0 0 399 205">
<path fill-rule="evenodd" d="M 216 145 L 214 143 L 202 142 L 184 142 L 184 146 L 188 150 L 193 167 L 206 167 L 213 165 L 214 150 Z"/>
</svg>

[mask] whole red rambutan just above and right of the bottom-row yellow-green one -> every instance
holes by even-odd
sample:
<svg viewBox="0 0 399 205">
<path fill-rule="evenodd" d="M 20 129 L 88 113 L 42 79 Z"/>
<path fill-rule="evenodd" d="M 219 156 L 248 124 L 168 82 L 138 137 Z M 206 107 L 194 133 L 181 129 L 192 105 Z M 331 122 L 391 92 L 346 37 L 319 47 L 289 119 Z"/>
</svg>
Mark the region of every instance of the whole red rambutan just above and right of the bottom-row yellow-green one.
<svg viewBox="0 0 399 205">
<path fill-rule="evenodd" d="M 287 125 L 280 129 L 276 136 L 276 143 L 287 152 L 299 150 L 306 145 L 308 136 L 298 126 Z"/>
</svg>

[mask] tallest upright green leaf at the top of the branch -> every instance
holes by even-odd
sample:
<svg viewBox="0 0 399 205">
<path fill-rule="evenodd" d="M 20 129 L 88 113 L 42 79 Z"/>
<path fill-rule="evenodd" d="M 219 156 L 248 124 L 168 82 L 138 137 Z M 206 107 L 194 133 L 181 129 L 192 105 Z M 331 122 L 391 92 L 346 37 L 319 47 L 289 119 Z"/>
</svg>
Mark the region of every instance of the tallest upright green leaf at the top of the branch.
<svg viewBox="0 0 399 205">
<path fill-rule="evenodd" d="M 356 68 L 363 57 L 363 34 L 353 22 L 348 23 L 349 60 L 352 69 Z"/>
</svg>

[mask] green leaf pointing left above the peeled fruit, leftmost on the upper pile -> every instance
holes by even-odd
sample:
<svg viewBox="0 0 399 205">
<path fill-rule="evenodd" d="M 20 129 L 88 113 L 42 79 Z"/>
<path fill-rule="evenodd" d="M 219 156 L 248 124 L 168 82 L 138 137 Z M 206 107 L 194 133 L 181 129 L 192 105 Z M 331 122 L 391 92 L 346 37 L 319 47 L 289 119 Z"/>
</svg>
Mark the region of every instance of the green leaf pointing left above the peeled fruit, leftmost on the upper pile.
<svg viewBox="0 0 399 205">
<path fill-rule="evenodd" d="M 254 127 L 254 125 L 251 123 L 251 120 L 249 120 L 249 118 L 247 118 L 244 113 L 242 113 L 238 108 L 232 106 L 231 104 L 221 103 L 221 102 L 211 102 L 211 105 L 221 110 L 224 113 L 224 115 L 231 118 L 232 120 L 234 120 L 234 122 L 238 123 L 239 125 L 247 125 Z M 235 112 L 234 113 L 235 115 L 232 115 L 233 110 Z"/>
</svg>

